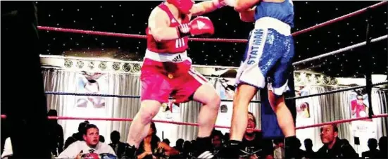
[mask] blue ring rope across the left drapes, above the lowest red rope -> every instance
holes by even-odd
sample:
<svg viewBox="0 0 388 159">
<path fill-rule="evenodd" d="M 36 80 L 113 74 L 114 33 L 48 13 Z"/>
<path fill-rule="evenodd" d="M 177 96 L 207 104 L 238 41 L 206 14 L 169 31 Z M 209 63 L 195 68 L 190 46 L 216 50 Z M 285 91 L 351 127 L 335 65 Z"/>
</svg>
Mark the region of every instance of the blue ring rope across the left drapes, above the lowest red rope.
<svg viewBox="0 0 388 159">
<path fill-rule="evenodd" d="M 80 94 L 80 93 L 70 93 L 70 92 L 58 92 L 58 91 L 46 91 L 44 94 L 49 95 L 66 95 L 66 96 L 102 96 L 102 97 L 116 97 L 116 98 L 140 98 L 140 96 L 131 96 L 131 95 L 117 95 L 117 94 Z M 170 98 L 173 99 L 173 98 Z M 231 99 L 221 99 L 221 101 L 233 101 Z M 260 101 L 253 100 L 251 103 L 260 103 Z"/>
</svg>

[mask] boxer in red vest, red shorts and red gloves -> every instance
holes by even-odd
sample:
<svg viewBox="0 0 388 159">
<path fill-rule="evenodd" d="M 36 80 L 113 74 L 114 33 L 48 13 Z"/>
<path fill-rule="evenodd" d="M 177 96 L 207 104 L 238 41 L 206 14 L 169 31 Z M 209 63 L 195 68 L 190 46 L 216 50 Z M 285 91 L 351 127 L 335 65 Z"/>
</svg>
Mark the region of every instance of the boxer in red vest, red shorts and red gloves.
<svg viewBox="0 0 388 159">
<path fill-rule="evenodd" d="M 199 113 L 199 132 L 194 157 L 213 158 L 211 132 L 220 106 L 220 96 L 206 78 L 192 68 L 187 56 L 188 36 L 211 35 L 213 23 L 209 18 L 192 16 L 215 11 L 224 6 L 223 0 L 204 1 L 167 0 L 154 8 L 146 29 L 147 49 L 142 65 L 142 106 L 134 117 L 128 134 L 128 157 L 132 157 L 149 131 L 152 118 L 161 103 L 169 96 L 175 103 L 198 101 L 203 103 Z"/>
</svg>

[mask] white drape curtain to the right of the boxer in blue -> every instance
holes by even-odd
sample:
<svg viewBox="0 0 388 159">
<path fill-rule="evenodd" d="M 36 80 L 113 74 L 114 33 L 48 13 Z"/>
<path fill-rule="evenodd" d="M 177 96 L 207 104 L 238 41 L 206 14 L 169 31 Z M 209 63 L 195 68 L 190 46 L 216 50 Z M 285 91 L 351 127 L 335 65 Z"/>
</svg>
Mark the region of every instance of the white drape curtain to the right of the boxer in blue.
<svg viewBox="0 0 388 159">
<path fill-rule="evenodd" d="M 330 91 L 333 87 L 309 87 L 309 94 L 318 94 L 324 91 Z M 314 96 L 311 98 L 302 98 L 296 100 L 298 106 L 302 102 L 310 103 L 310 118 L 297 118 L 296 126 L 313 125 L 322 122 L 330 122 L 334 120 L 344 120 L 351 118 L 350 98 L 351 91 L 343 91 L 335 94 L 327 94 L 323 96 Z M 372 91 L 373 112 L 375 115 L 387 113 L 387 91 L 374 89 Z M 375 118 L 370 125 L 376 133 L 371 136 L 360 138 L 360 145 L 354 144 L 354 136 L 351 129 L 351 122 L 346 122 L 339 126 L 339 138 L 347 139 L 355 150 L 361 154 L 363 151 L 368 151 L 367 141 L 369 138 L 380 139 L 381 136 L 387 136 L 387 117 Z M 299 129 L 296 131 L 296 136 L 301 140 L 303 145 L 304 139 L 313 140 L 313 150 L 323 146 L 320 141 L 320 128 Z M 301 147 L 304 149 L 304 146 Z"/>
</svg>

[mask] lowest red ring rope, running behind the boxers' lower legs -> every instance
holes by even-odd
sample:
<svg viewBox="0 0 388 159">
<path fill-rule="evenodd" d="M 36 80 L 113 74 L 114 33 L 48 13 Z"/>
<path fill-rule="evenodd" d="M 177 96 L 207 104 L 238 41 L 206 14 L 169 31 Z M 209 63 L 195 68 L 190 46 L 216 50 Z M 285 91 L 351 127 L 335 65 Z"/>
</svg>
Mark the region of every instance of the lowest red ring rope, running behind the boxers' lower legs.
<svg viewBox="0 0 388 159">
<path fill-rule="evenodd" d="M 378 117 L 388 117 L 388 114 L 380 114 L 380 115 L 373 115 L 372 118 L 378 118 Z M 1 115 L 1 119 L 5 119 L 6 115 Z M 104 120 L 104 121 L 120 121 L 120 122 L 132 122 L 132 118 L 110 118 L 110 117 L 62 117 L 62 116 L 49 116 L 49 120 Z M 358 121 L 358 120 L 367 120 L 370 119 L 369 117 L 357 117 L 353 119 L 346 119 L 346 120 L 336 120 L 332 122 L 323 122 L 315 125 L 307 125 L 302 127 L 296 127 L 296 129 L 306 129 L 311 127 L 320 127 L 323 125 L 333 125 L 333 124 L 341 124 L 344 122 L 352 122 L 352 121 Z M 189 125 L 189 126 L 195 126 L 198 127 L 198 123 L 192 123 L 192 122 L 173 122 L 173 121 L 166 121 L 166 120 L 152 120 L 153 122 L 161 122 L 166 124 L 175 124 L 175 125 Z M 225 128 L 230 129 L 230 127 L 226 126 L 220 126 L 215 125 L 216 128 Z M 261 131 L 261 129 L 254 129 L 255 131 Z"/>
</svg>

